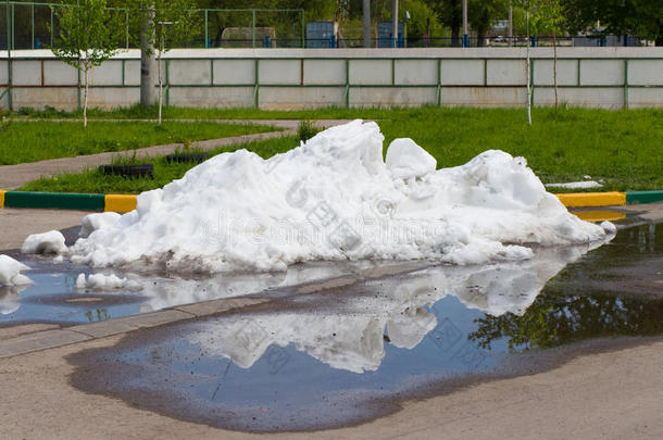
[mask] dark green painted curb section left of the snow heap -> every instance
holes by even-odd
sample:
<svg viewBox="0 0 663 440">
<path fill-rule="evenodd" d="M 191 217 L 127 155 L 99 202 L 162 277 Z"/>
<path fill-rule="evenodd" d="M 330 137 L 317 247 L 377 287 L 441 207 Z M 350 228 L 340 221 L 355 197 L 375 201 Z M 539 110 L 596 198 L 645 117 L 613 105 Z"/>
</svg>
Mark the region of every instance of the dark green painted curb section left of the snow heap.
<svg viewBox="0 0 663 440">
<path fill-rule="evenodd" d="M 103 211 L 103 194 L 7 191 L 4 208 L 54 208 L 61 210 Z"/>
</svg>

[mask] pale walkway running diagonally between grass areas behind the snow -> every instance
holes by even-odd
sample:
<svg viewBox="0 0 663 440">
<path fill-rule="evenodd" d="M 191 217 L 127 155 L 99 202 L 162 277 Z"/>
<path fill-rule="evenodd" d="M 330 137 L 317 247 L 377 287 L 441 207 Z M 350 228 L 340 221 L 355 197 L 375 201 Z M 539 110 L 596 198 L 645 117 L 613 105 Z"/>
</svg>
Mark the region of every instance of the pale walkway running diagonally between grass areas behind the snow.
<svg viewBox="0 0 663 440">
<path fill-rule="evenodd" d="M 34 120 L 25 120 L 34 121 Z M 50 121 L 50 120 L 49 120 Z M 60 121 L 60 120 L 53 120 Z M 78 122 L 76 120 L 61 120 L 66 122 Z M 108 120 L 108 121 L 126 121 L 126 120 Z M 183 120 L 185 122 L 191 122 L 192 120 Z M 257 140 L 272 139 L 282 136 L 291 136 L 297 133 L 297 127 L 300 121 L 293 120 L 217 120 L 213 122 L 218 123 L 236 123 L 236 124 L 263 124 L 272 125 L 282 128 L 283 131 L 268 131 L 259 133 L 254 135 L 234 136 L 221 139 L 210 139 L 191 142 L 192 148 L 201 150 L 214 150 L 220 147 L 227 147 L 237 143 L 245 143 Z M 334 125 L 342 124 L 347 121 L 342 120 L 321 120 L 316 121 L 315 124 L 320 128 L 326 128 Z M 172 154 L 177 149 L 183 148 L 182 143 L 168 143 L 163 146 L 148 147 L 136 150 L 136 158 L 150 158 L 160 156 L 165 154 Z M 113 158 L 116 156 L 133 156 L 134 150 L 126 151 L 113 151 L 108 153 L 80 155 L 77 158 L 61 158 L 51 159 L 39 162 L 22 163 L 16 165 L 4 165 L 0 166 L 0 189 L 15 189 L 28 181 L 38 179 L 40 177 L 50 177 L 60 173 L 79 173 L 87 168 L 93 168 L 99 165 L 111 163 Z"/>
</svg>

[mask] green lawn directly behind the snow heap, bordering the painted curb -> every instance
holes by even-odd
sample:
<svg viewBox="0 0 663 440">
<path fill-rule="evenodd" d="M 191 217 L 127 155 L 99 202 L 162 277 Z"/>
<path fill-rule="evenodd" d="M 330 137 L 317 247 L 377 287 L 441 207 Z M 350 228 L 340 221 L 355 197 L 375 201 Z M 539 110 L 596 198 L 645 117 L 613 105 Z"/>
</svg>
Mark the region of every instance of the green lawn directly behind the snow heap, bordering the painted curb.
<svg viewBox="0 0 663 440">
<path fill-rule="evenodd" d="M 130 112 L 126 110 L 125 112 Z M 438 167 L 467 162 L 488 149 L 504 150 L 527 159 L 543 183 L 583 180 L 585 175 L 604 179 L 603 190 L 663 188 L 663 111 L 603 111 L 587 109 L 535 109 L 534 125 L 525 123 L 518 109 L 325 109 L 312 112 L 261 112 L 257 110 L 168 109 L 191 117 L 378 120 L 385 134 L 385 150 L 397 137 L 410 137 L 429 151 Z M 121 111 L 117 111 L 121 112 Z M 108 116 L 108 114 L 107 114 Z M 172 114 L 171 117 L 174 117 Z M 296 138 L 272 139 L 237 148 L 248 148 L 263 158 L 287 151 Z M 217 152 L 229 151 L 228 149 Z M 58 180 L 40 179 L 24 190 L 82 192 L 139 192 L 161 187 L 180 177 L 192 165 L 155 164 L 154 180 L 125 180 L 88 171 L 62 175 Z M 559 191 L 559 190 L 555 190 Z"/>
</svg>

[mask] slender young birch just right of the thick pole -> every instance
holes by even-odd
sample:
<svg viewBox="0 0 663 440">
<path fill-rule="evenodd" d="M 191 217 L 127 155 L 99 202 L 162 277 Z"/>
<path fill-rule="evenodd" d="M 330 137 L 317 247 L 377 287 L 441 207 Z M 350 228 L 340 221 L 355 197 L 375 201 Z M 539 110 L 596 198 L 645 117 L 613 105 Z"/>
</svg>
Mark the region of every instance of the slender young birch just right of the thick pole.
<svg viewBox="0 0 663 440">
<path fill-rule="evenodd" d="M 163 113 L 163 54 L 174 47 L 188 42 L 200 33 L 198 11 L 195 0 L 148 0 L 134 1 L 134 10 L 148 8 L 152 20 L 143 22 L 143 38 L 148 39 L 148 49 L 157 51 L 157 71 L 159 77 L 159 125 Z M 135 14 L 140 16 L 140 14 Z"/>
</svg>

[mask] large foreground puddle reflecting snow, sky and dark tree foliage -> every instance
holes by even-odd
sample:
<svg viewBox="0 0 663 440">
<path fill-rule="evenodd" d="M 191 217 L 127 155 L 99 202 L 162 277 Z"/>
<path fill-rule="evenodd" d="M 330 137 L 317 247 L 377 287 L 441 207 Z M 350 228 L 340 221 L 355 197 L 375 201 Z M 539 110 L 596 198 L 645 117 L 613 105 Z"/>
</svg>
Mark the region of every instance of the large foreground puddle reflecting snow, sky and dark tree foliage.
<svg viewBox="0 0 663 440">
<path fill-rule="evenodd" d="M 574 342 L 663 334 L 663 226 L 588 251 L 290 289 L 241 314 L 76 354 L 72 380 L 186 420 L 307 430 L 365 422 L 459 381 L 529 374 Z"/>
</svg>

